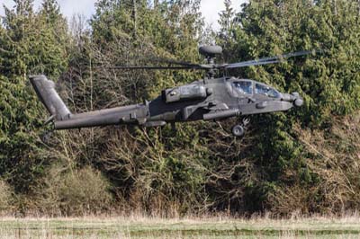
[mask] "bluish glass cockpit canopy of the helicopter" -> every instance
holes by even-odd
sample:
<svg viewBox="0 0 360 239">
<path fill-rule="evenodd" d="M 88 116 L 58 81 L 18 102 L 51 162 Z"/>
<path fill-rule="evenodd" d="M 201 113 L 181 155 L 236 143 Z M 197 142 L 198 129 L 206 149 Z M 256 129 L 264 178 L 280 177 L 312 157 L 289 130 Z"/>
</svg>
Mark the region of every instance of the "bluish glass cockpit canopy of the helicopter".
<svg viewBox="0 0 360 239">
<path fill-rule="evenodd" d="M 238 80 L 232 83 L 233 87 L 238 91 L 238 93 L 242 94 L 262 94 L 271 98 L 279 98 L 280 93 L 276 91 L 274 88 L 266 85 L 260 84 L 257 82 L 253 82 L 251 80 Z"/>
</svg>

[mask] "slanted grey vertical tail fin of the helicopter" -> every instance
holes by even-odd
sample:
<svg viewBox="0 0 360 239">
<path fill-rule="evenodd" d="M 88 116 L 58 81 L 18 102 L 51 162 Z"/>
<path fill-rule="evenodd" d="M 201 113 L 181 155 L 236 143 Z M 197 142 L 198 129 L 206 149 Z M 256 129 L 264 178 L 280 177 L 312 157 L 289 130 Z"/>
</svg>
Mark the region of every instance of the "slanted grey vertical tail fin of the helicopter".
<svg viewBox="0 0 360 239">
<path fill-rule="evenodd" d="M 54 82 L 48 80 L 45 75 L 30 76 L 30 81 L 38 94 L 40 101 L 45 105 L 55 120 L 68 120 L 71 112 L 55 91 Z"/>
</svg>

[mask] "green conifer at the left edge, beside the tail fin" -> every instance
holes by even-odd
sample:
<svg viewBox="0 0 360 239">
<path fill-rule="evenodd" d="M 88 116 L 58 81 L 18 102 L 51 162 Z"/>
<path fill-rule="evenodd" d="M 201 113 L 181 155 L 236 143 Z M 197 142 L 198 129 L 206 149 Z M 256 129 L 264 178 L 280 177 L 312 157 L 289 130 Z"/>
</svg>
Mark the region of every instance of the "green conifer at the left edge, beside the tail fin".
<svg viewBox="0 0 360 239">
<path fill-rule="evenodd" d="M 5 9 L 0 42 L 0 173 L 17 192 L 26 193 L 49 164 L 40 141 L 42 108 L 28 86 L 28 75 L 58 76 L 67 64 L 66 53 L 29 0 Z"/>
</svg>

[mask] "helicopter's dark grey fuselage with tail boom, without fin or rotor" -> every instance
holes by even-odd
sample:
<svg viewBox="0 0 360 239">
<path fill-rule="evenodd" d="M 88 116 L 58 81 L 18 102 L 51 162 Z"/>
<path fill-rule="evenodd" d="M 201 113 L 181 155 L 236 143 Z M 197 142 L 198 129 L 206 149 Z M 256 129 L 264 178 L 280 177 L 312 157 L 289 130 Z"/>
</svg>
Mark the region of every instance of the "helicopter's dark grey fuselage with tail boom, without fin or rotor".
<svg viewBox="0 0 360 239">
<path fill-rule="evenodd" d="M 229 117 L 287 111 L 298 95 L 279 93 L 253 80 L 235 77 L 202 79 L 167 89 L 151 102 L 109 110 L 71 115 L 55 122 L 55 128 L 136 124 L 144 127 L 193 120 L 220 120 Z"/>
</svg>

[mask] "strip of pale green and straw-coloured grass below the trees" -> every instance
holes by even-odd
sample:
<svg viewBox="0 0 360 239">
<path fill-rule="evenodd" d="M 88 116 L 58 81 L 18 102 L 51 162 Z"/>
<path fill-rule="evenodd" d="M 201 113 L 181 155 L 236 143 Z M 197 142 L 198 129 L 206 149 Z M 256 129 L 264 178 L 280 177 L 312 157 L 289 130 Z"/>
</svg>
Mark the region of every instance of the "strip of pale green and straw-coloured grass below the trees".
<svg viewBox="0 0 360 239">
<path fill-rule="evenodd" d="M 0 238 L 360 238 L 360 218 L 3 217 Z"/>
</svg>

